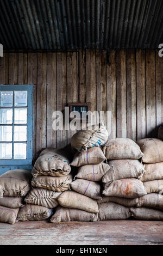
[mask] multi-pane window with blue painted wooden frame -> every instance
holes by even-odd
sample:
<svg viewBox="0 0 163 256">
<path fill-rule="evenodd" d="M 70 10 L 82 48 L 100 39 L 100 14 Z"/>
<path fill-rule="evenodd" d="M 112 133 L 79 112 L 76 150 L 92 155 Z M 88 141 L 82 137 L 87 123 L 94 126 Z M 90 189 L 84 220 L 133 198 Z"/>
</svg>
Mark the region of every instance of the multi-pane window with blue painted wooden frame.
<svg viewBox="0 0 163 256">
<path fill-rule="evenodd" d="M 32 169 L 33 85 L 0 85 L 0 175 Z"/>
</svg>

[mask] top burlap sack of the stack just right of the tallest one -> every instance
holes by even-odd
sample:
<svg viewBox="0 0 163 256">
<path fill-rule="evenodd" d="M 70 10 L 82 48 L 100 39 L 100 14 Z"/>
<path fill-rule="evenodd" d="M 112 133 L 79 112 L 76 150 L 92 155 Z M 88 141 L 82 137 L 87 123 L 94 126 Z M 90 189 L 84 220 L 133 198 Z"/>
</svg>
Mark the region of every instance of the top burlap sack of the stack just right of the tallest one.
<svg viewBox="0 0 163 256">
<path fill-rule="evenodd" d="M 116 138 L 106 141 L 103 153 L 108 160 L 140 159 L 143 154 L 140 147 L 129 138 Z"/>
</svg>

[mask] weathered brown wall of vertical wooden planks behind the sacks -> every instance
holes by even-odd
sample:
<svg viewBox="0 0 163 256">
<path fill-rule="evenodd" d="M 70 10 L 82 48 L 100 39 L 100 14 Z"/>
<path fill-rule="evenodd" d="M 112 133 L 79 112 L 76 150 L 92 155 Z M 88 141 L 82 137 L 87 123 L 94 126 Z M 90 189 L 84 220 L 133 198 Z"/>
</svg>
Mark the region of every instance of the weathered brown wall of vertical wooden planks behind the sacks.
<svg viewBox="0 0 163 256">
<path fill-rule="evenodd" d="M 68 102 L 111 111 L 109 138 L 155 137 L 163 123 L 163 58 L 155 50 L 5 52 L 0 84 L 34 84 L 34 157 L 64 147 L 74 131 L 54 131 L 52 114 Z"/>
</svg>

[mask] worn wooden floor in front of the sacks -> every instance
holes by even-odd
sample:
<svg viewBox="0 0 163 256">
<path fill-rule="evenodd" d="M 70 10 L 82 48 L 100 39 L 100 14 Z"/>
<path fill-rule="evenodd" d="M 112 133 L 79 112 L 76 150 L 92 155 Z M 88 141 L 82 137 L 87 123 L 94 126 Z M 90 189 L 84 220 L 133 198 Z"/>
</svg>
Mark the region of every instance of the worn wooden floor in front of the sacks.
<svg viewBox="0 0 163 256">
<path fill-rule="evenodd" d="M 0 245 L 163 245 L 163 222 L 0 223 Z"/>
</svg>

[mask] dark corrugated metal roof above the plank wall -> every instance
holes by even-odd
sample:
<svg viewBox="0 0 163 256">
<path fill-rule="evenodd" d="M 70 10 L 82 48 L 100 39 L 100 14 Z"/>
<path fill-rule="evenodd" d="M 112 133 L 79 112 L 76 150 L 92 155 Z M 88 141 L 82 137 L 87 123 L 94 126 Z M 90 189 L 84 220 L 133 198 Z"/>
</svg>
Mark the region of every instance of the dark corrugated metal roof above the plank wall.
<svg viewBox="0 0 163 256">
<path fill-rule="evenodd" d="M 162 0 L 1 0 L 4 49 L 157 48 Z"/>
</svg>

